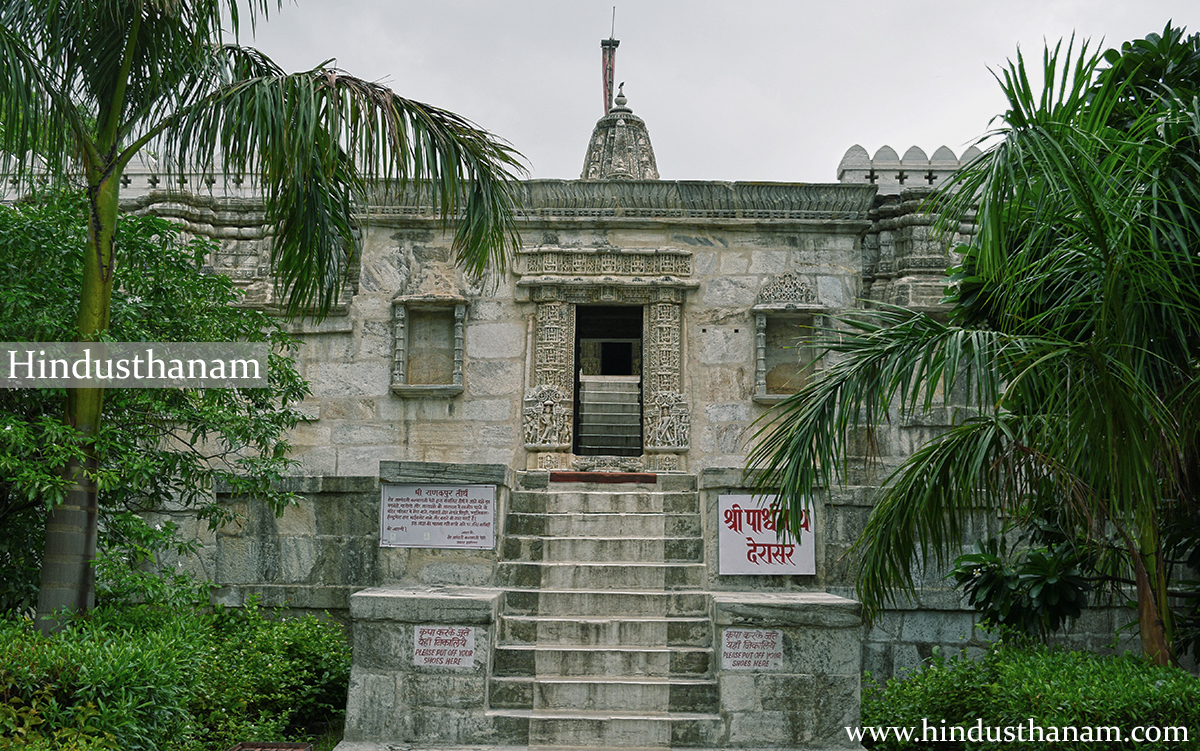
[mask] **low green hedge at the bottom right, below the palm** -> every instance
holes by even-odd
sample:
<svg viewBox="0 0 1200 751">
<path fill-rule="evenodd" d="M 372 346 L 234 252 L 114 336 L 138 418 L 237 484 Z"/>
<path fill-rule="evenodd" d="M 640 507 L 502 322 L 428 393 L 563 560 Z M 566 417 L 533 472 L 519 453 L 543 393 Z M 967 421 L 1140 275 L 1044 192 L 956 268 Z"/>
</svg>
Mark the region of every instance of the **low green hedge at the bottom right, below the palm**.
<svg viewBox="0 0 1200 751">
<path fill-rule="evenodd" d="M 1024 639 L 1001 642 L 980 660 L 937 655 L 920 671 L 886 685 L 863 685 L 863 726 L 938 728 L 1033 725 L 1110 727 L 1186 726 L 1189 743 L 1200 729 L 1200 680 L 1174 667 L 1132 656 L 1063 651 Z M 922 747 L 918 743 L 865 744 L 871 749 Z M 1015 743 L 940 743 L 946 749 L 1010 749 Z M 1037 747 L 1037 744 L 1024 747 Z M 1055 749 L 1127 749 L 1123 743 L 1056 743 Z M 1146 743 L 1139 749 L 1192 747 Z"/>
</svg>

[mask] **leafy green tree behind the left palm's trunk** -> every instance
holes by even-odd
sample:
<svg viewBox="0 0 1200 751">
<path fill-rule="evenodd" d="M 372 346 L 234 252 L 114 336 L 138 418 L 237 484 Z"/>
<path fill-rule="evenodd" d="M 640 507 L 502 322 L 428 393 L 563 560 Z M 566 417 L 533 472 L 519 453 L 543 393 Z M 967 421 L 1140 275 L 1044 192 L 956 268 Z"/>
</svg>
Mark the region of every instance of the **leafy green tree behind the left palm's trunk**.
<svg viewBox="0 0 1200 751">
<path fill-rule="evenodd" d="M 76 302 L 61 290 L 79 283 L 83 211 L 70 193 L 0 206 L 0 341 L 74 338 Z M 121 217 L 120 233 L 125 254 L 115 275 L 112 341 L 265 341 L 275 348 L 265 389 L 106 392 L 95 443 L 106 557 L 101 595 L 120 587 L 113 578 L 118 561 L 133 576 L 172 545 L 170 535 L 156 539 L 132 511 L 172 501 L 221 523 L 227 511 L 214 503 L 216 483 L 282 509 L 289 495 L 277 480 L 292 465 L 284 437 L 296 422 L 292 404 L 307 393 L 278 324 L 235 307 L 239 294 L 228 277 L 202 272 L 214 244 L 151 217 Z M 35 601 L 46 510 L 62 499 L 64 467 L 83 458 L 78 434 L 62 422 L 62 399 L 61 390 L 0 391 L 0 613 Z"/>
</svg>

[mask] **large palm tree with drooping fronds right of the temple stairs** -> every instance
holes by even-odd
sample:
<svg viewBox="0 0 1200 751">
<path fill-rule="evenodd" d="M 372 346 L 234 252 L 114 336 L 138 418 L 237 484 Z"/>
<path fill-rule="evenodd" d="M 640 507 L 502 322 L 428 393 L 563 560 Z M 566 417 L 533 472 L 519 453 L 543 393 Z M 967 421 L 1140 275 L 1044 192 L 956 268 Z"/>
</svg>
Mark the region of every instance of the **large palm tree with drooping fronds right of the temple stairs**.
<svg viewBox="0 0 1200 751">
<path fill-rule="evenodd" d="M 1163 36 L 1200 61 L 1198 37 Z M 1082 539 L 1120 541 L 1144 651 L 1171 659 L 1162 515 L 1196 503 L 1200 77 L 1184 94 L 1121 64 L 1162 40 L 1108 58 L 1048 49 L 1042 91 L 1020 55 L 1009 64 L 994 145 L 936 198 L 947 227 L 976 212 L 949 319 L 842 317 L 817 342 L 823 377 L 760 429 L 750 467 L 786 512 L 838 481 L 860 431 L 967 395 L 954 427 L 892 473 L 858 541 L 869 617 L 913 590 L 916 564 L 946 565 L 974 515 L 1052 509 Z"/>
</svg>

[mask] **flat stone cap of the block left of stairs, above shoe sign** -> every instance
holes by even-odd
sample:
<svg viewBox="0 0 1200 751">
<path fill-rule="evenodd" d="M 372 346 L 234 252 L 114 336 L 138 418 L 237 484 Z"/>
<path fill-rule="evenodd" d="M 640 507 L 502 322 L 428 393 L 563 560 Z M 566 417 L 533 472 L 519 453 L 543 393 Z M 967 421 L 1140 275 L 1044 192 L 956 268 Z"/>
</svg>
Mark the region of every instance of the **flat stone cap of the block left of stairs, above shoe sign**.
<svg viewBox="0 0 1200 751">
<path fill-rule="evenodd" d="M 490 624 L 496 620 L 503 589 L 481 587 L 373 587 L 350 595 L 354 620 Z"/>
</svg>

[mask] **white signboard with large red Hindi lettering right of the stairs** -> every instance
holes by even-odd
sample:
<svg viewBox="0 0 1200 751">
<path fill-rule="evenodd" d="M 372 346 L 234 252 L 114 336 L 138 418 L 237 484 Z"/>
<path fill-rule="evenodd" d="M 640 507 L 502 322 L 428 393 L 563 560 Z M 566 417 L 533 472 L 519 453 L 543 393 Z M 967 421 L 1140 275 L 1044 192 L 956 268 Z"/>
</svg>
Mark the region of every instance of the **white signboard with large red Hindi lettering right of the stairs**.
<svg viewBox="0 0 1200 751">
<path fill-rule="evenodd" d="M 774 495 L 721 495 L 718 499 L 720 573 L 816 573 L 816 542 L 808 511 L 800 519 L 800 540 L 775 530 Z"/>
</svg>

